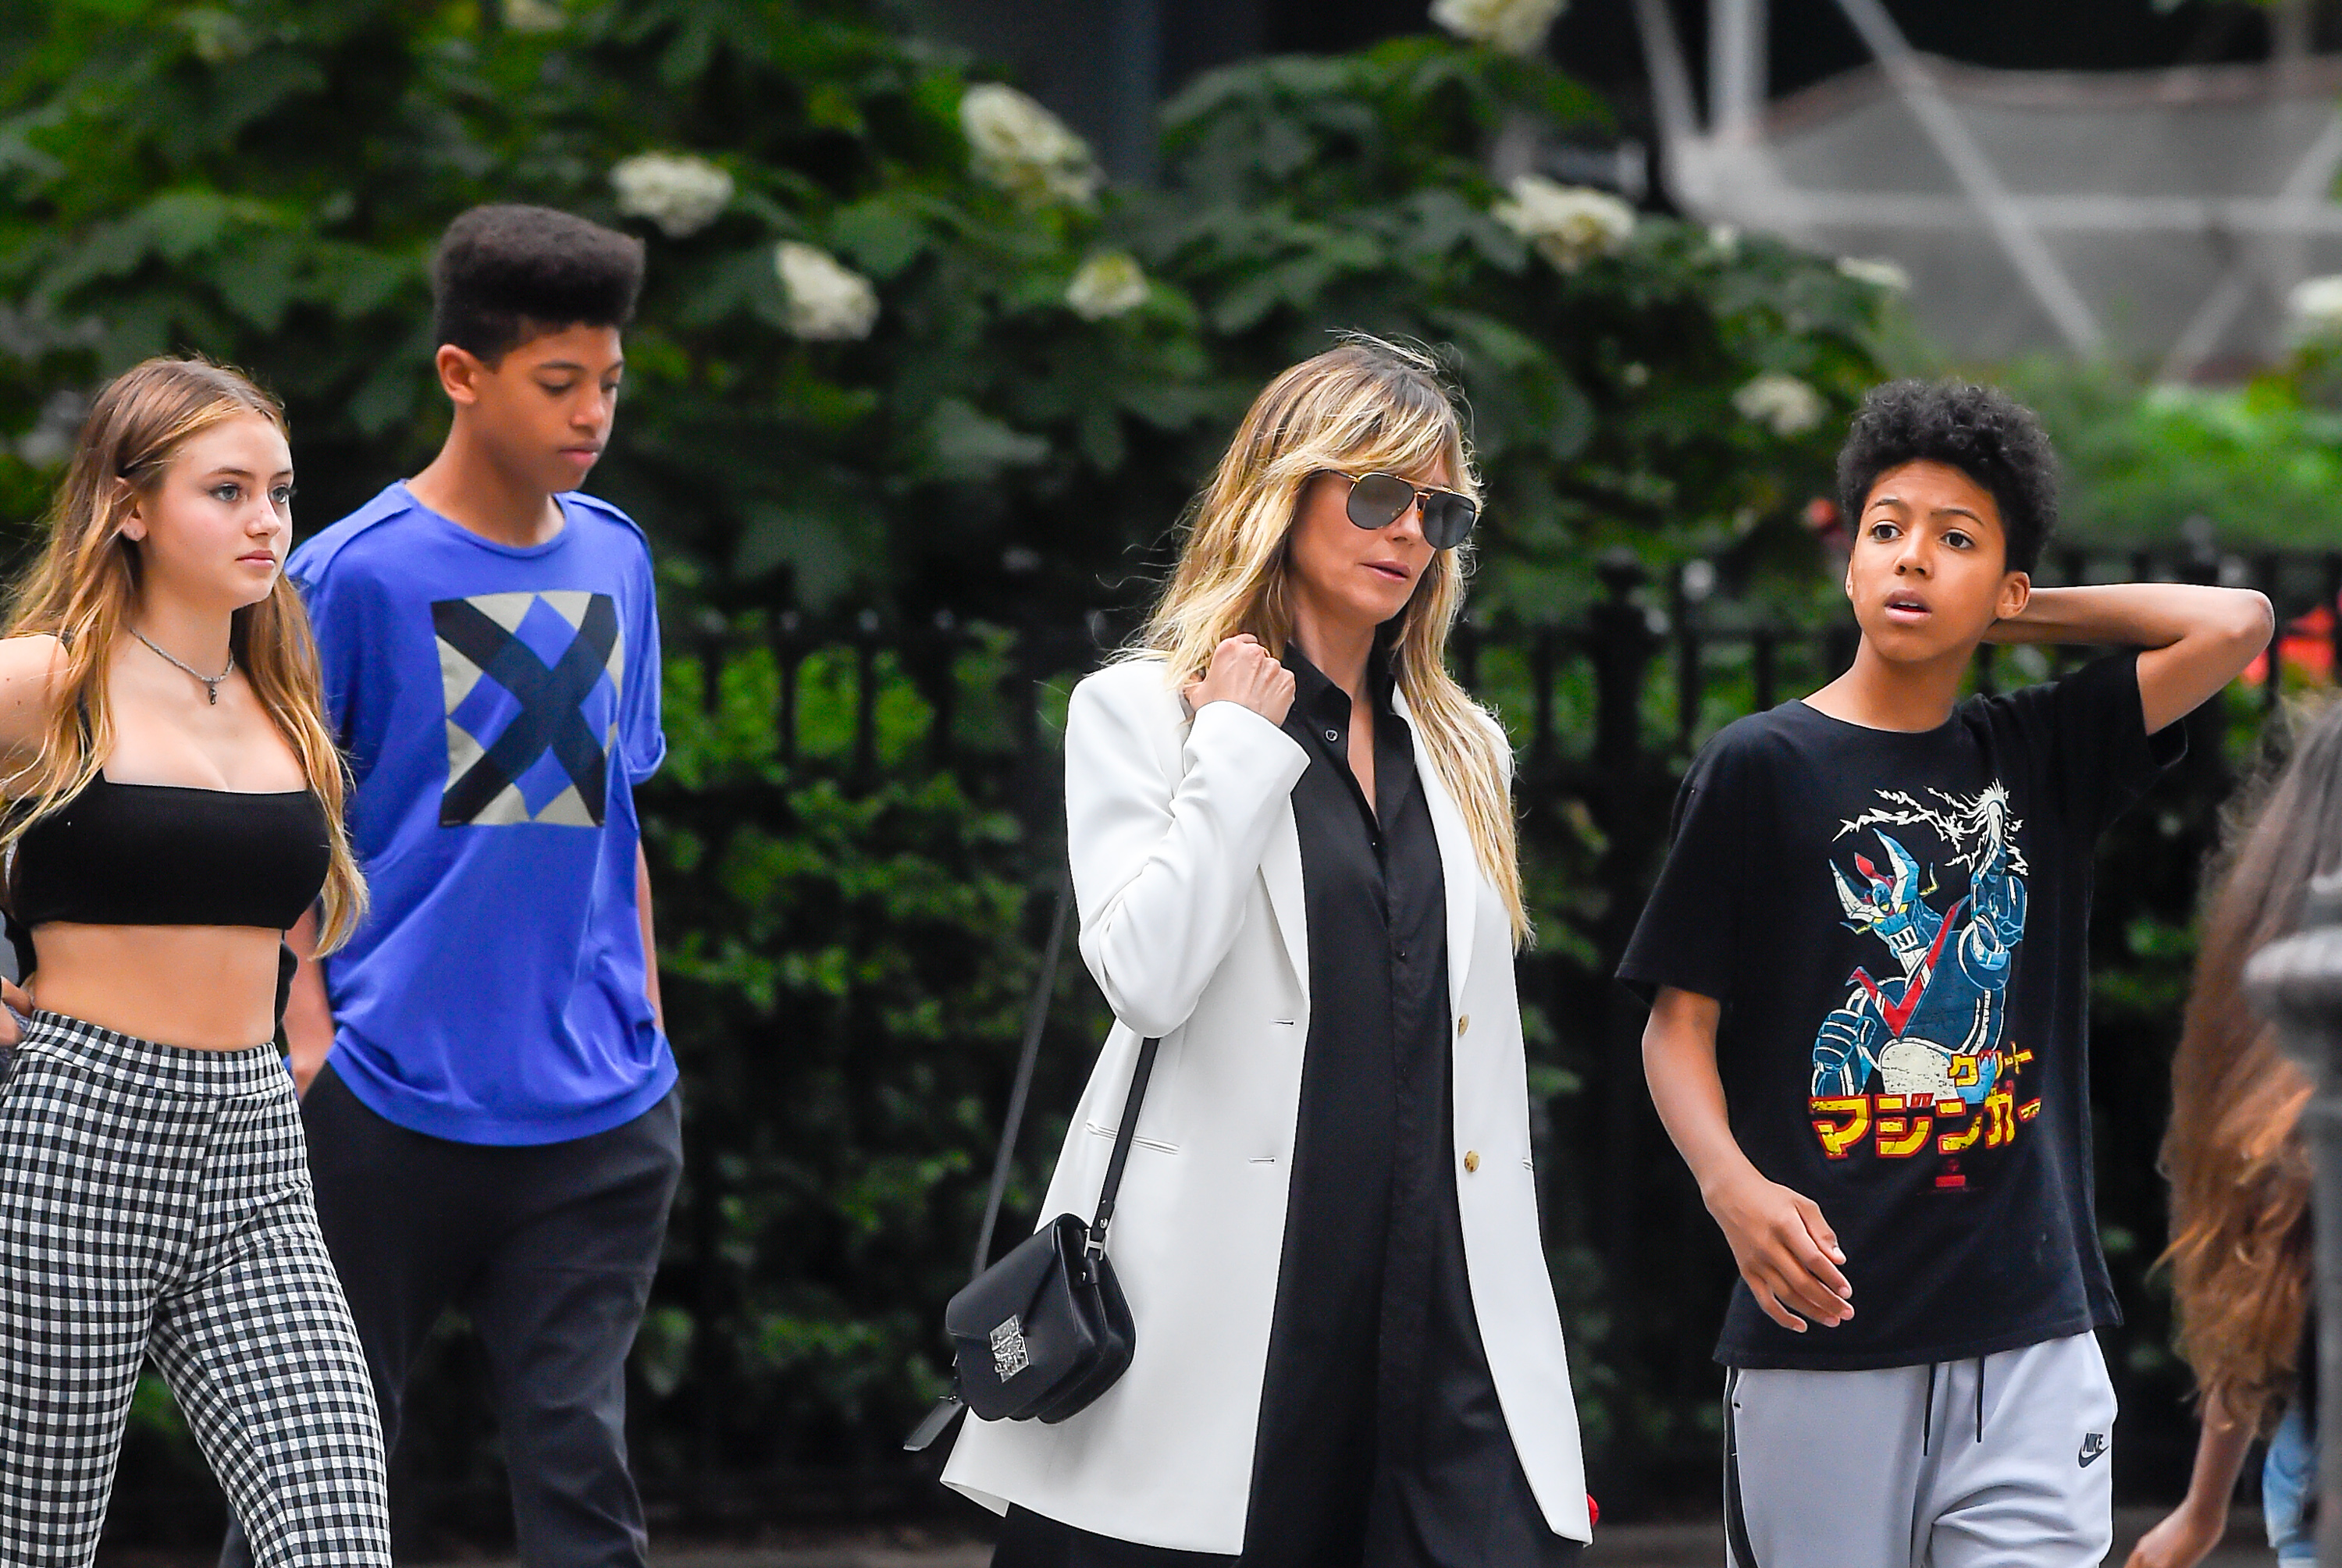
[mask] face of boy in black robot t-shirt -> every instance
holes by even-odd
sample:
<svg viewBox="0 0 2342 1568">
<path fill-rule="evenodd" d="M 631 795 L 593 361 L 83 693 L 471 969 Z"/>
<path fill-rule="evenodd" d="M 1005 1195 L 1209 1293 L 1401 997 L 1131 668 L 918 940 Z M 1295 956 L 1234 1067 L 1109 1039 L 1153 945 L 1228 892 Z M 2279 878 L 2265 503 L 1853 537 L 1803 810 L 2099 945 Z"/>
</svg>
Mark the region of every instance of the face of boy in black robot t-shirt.
<svg viewBox="0 0 2342 1568">
<path fill-rule="evenodd" d="M 1845 597 L 1878 658 L 1965 660 L 1995 620 L 2023 611 L 2031 587 L 2023 571 L 2007 569 L 1993 491 L 1951 463 L 1899 463 L 1864 496 Z"/>
</svg>

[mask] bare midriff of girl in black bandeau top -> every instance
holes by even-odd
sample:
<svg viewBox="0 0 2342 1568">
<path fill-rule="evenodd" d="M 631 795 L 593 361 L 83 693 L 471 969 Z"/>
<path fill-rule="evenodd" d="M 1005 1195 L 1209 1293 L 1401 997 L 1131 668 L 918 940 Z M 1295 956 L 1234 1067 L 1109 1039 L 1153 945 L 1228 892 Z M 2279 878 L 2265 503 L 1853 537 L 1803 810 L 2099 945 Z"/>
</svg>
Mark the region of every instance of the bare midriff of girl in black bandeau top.
<svg viewBox="0 0 2342 1568">
<path fill-rule="evenodd" d="M 215 924 L 33 929 L 33 1004 L 192 1051 L 246 1051 L 276 1037 L 276 931 Z"/>
</svg>

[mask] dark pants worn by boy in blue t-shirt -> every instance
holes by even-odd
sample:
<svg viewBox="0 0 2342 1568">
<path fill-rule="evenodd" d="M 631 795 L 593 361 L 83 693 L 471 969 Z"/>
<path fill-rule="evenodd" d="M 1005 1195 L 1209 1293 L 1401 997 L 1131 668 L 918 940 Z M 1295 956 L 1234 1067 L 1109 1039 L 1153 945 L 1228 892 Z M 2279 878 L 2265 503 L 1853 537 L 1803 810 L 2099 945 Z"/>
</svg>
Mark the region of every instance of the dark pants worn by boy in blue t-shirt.
<svg viewBox="0 0 2342 1568">
<path fill-rule="evenodd" d="M 684 1168 L 677 1098 L 593 1137 L 459 1144 L 384 1121 L 328 1065 L 302 1123 L 384 1446 L 398 1444 L 415 1355 L 459 1308 L 494 1369 L 520 1559 L 642 1568 L 625 1355 Z M 251 1563 L 234 1521 L 220 1563 Z"/>
</svg>

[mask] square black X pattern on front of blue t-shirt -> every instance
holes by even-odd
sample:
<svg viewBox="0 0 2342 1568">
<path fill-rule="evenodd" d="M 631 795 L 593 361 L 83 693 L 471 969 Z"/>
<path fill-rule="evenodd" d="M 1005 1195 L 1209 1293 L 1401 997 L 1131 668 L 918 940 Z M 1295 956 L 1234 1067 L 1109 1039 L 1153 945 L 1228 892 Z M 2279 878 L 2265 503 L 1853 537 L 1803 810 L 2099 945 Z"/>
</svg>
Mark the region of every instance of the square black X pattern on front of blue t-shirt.
<svg viewBox="0 0 2342 1568">
<path fill-rule="evenodd" d="M 583 590 L 438 599 L 431 630 L 447 700 L 440 826 L 600 828 L 625 679 L 616 599 Z"/>
</svg>

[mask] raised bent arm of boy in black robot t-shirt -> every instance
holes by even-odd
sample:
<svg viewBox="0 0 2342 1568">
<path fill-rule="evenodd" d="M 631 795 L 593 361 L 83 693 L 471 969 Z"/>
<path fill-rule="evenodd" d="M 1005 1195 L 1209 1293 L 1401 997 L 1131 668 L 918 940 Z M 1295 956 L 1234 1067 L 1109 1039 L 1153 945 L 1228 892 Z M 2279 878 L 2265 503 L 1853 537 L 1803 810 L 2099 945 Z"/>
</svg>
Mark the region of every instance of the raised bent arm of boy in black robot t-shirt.
<svg viewBox="0 0 2342 1568">
<path fill-rule="evenodd" d="M 1984 641 L 2145 648 L 2138 702 L 2155 735 L 2244 674 L 2274 630 L 2269 601 L 2251 587 L 2108 583 L 2035 587 L 2026 608 L 1995 623 Z"/>
</svg>

